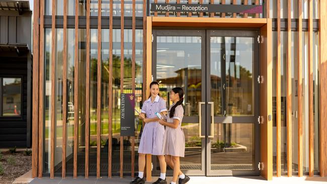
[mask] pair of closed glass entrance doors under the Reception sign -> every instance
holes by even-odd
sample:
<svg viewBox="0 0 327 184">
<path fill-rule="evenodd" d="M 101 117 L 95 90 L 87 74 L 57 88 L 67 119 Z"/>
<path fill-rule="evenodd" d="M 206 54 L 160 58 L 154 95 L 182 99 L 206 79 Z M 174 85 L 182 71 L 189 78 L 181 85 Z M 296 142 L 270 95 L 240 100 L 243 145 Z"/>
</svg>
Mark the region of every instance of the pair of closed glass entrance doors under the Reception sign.
<svg viewBox="0 0 327 184">
<path fill-rule="evenodd" d="M 152 74 L 169 107 L 185 90 L 188 175 L 259 175 L 258 31 L 152 30 Z M 152 157 L 153 175 L 160 174 Z M 167 170 L 172 175 L 172 169 Z"/>
</svg>

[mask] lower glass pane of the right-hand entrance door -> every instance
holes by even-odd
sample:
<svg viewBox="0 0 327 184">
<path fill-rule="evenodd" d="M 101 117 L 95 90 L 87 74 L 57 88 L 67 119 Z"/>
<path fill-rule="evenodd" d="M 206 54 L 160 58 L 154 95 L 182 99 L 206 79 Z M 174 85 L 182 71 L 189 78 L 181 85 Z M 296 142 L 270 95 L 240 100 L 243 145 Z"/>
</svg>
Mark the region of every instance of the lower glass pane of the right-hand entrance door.
<svg viewBox="0 0 327 184">
<path fill-rule="evenodd" d="M 212 170 L 254 170 L 255 129 L 253 123 L 215 124 L 211 144 Z"/>
</svg>

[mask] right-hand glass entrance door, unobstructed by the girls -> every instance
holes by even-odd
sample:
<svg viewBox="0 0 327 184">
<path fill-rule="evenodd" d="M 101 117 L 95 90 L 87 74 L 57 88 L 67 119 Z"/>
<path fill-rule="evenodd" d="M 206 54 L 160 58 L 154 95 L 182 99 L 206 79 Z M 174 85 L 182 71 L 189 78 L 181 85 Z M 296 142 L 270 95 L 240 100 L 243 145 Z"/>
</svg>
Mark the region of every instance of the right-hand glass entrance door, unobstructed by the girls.
<svg viewBox="0 0 327 184">
<path fill-rule="evenodd" d="M 207 175 L 259 174 L 257 37 L 207 30 Z"/>
</svg>

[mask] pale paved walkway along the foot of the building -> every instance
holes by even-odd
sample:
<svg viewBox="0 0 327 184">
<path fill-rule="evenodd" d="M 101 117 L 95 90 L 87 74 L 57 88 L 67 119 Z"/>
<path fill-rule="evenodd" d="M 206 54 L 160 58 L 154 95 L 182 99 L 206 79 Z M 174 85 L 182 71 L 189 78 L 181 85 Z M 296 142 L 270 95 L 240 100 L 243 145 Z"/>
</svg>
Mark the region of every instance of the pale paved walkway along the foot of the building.
<svg viewBox="0 0 327 184">
<path fill-rule="evenodd" d="M 168 177 L 170 182 L 172 177 Z M 152 178 L 153 181 L 156 177 Z M 35 178 L 30 184 L 128 184 L 131 178 Z M 153 182 L 152 181 L 152 182 Z M 152 183 L 146 182 L 146 183 Z M 168 183 L 169 183 L 168 182 Z M 260 176 L 247 176 L 247 177 L 203 177 L 192 176 L 188 184 L 205 184 L 205 183 L 227 183 L 227 184 L 260 184 L 260 183 L 288 183 L 288 184 L 301 184 L 301 183 L 313 183 L 313 184 L 327 184 L 327 177 L 274 177 L 272 181 L 267 181 Z"/>
</svg>

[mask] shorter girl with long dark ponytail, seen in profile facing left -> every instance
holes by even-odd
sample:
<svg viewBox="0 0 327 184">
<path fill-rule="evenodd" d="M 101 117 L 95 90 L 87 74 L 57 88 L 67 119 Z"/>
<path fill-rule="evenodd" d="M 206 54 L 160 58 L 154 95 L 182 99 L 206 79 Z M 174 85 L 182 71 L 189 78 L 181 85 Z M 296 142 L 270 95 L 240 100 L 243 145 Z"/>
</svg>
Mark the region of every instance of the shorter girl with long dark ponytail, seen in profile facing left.
<svg viewBox="0 0 327 184">
<path fill-rule="evenodd" d="M 182 119 L 184 109 L 184 90 L 181 87 L 175 87 L 171 90 L 170 99 L 173 105 L 169 109 L 167 121 L 160 119 L 159 123 L 166 126 L 165 137 L 163 138 L 163 153 L 167 164 L 174 169 L 173 180 L 171 184 L 186 183 L 190 177 L 183 174 L 180 169 L 180 157 L 185 154 L 185 137 L 182 130 Z"/>
</svg>

